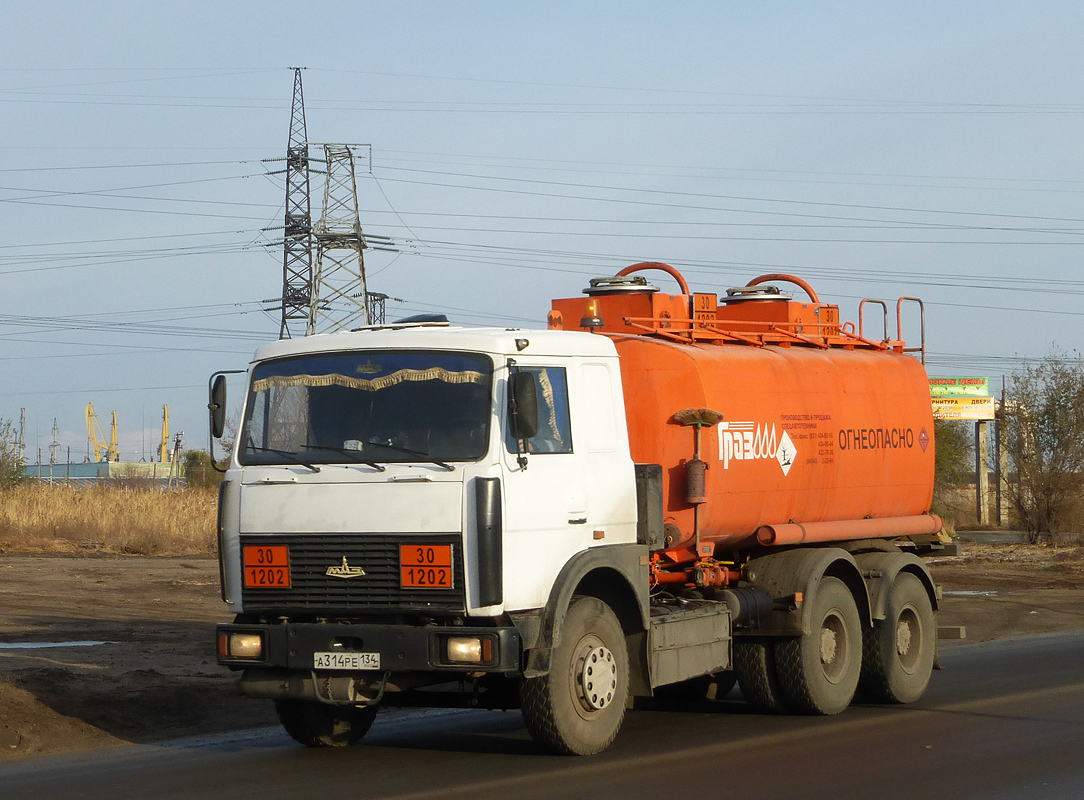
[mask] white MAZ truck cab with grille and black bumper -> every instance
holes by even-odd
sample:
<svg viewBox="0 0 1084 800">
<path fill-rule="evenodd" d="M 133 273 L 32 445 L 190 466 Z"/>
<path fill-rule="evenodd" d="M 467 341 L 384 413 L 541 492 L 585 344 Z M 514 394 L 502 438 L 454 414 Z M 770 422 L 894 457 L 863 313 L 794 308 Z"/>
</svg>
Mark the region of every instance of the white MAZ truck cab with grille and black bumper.
<svg viewBox="0 0 1084 800">
<path fill-rule="evenodd" d="M 535 405 L 518 431 L 515 375 Z M 262 347 L 221 489 L 219 660 L 306 744 L 360 736 L 380 700 L 448 701 L 425 687 L 517 705 L 585 579 L 647 627 L 634 473 L 606 337 L 423 324 Z"/>
</svg>

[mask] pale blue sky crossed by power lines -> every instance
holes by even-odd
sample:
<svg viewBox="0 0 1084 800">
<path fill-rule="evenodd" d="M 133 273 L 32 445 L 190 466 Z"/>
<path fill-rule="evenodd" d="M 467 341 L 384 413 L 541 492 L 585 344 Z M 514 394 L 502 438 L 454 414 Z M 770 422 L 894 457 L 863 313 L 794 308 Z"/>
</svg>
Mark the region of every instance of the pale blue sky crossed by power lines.
<svg viewBox="0 0 1084 800">
<path fill-rule="evenodd" d="M 927 301 L 929 369 L 999 385 L 1084 333 L 1084 5 L 4 3 L 0 417 L 125 460 L 278 336 L 292 66 L 373 145 L 389 315 L 541 326 L 637 260 Z M 92 9 L 92 10 L 91 10 Z M 65 456 L 62 450 L 61 459 Z"/>
</svg>

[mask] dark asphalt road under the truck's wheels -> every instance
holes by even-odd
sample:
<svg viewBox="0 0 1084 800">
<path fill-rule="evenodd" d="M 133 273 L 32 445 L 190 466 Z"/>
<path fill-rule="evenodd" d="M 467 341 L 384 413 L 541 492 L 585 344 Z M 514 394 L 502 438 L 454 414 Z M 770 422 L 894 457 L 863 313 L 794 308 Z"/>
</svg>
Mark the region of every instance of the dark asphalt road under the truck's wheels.
<svg viewBox="0 0 1084 800">
<path fill-rule="evenodd" d="M 412 712 L 340 750 L 261 731 L 37 759 L 0 767 L 0 798 L 1084 798 L 1084 633 L 945 647 L 942 662 L 909 707 L 631 711 L 595 758 L 541 754 L 514 711 Z"/>
</svg>

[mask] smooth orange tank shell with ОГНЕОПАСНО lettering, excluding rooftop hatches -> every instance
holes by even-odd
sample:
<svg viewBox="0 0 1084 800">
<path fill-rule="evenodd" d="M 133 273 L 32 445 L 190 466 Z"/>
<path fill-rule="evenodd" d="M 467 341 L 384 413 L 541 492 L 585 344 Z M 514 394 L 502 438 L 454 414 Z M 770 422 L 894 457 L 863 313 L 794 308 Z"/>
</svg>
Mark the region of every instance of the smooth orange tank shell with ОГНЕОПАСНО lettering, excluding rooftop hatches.
<svg viewBox="0 0 1084 800">
<path fill-rule="evenodd" d="M 922 365 L 911 356 L 805 347 L 682 345 L 616 337 L 632 457 L 661 464 L 667 519 L 687 540 L 684 464 L 692 428 L 672 422 L 709 408 L 701 540 L 743 542 L 758 528 L 930 508 L 933 417 Z"/>
</svg>

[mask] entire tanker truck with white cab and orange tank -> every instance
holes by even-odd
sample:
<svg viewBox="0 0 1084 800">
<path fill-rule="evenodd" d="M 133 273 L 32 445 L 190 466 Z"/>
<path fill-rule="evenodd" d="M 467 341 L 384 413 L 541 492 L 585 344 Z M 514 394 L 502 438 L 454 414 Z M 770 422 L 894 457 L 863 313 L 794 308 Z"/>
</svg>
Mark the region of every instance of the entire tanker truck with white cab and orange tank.
<svg viewBox="0 0 1084 800">
<path fill-rule="evenodd" d="M 653 262 L 584 294 L 546 331 L 424 315 L 256 352 L 218 660 L 298 741 L 356 744 L 382 705 L 519 708 L 588 754 L 636 697 L 925 692 L 944 544 L 915 298 L 893 339 L 885 304 L 867 335 L 790 275 L 719 296 Z M 210 395 L 221 436 L 223 374 Z"/>
</svg>

